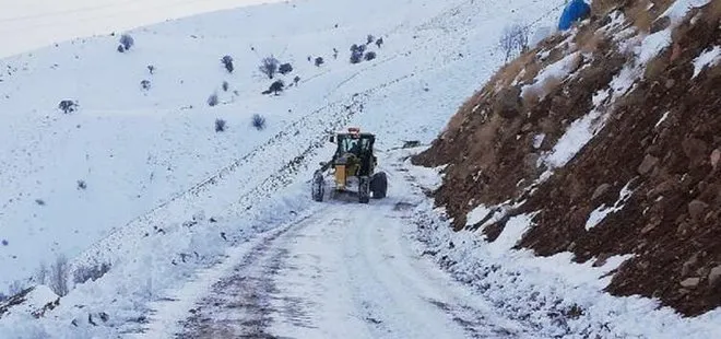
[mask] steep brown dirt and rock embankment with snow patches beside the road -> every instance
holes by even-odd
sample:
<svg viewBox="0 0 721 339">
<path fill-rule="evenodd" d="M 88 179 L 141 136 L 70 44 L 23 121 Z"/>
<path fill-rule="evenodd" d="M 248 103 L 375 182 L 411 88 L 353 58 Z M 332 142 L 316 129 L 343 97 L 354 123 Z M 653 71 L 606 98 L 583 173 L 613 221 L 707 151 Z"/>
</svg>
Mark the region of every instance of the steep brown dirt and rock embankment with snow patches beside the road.
<svg viewBox="0 0 721 339">
<path fill-rule="evenodd" d="M 721 65 L 694 77 L 694 60 L 721 46 L 721 1 L 670 27 L 661 13 L 672 2 L 600 1 L 578 31 L 501 69 L 414 162 L 448 164 L 436 201 L 457 230 L 480 227 L 493 241 L 508 218 L 536 212 L 517 246 L 598 265 L 634 254 L 607 291 L 693 316 L 721 306 Z M 629 46 L 666 28 L 669 47 L 639 61 Z M 564 71 L 541 77 L 549 66 Z M 554 167 L 548 154 L 592 112 L 594 137 Z M 497 222 L 489 214 L 466 225 L 478 204 L 519 201 Z"/>
</svg>

